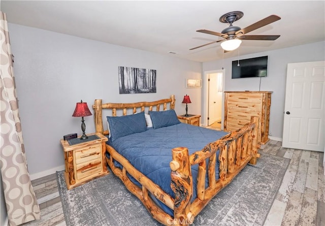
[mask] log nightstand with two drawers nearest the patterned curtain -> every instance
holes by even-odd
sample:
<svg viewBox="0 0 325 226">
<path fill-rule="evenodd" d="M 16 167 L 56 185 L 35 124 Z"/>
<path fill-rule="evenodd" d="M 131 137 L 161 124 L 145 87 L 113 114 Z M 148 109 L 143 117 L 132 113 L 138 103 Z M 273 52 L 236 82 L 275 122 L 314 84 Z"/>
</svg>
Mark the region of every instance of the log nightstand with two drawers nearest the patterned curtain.
<svg viewBox="0 0 325 226">
<path fill-rule="evenodd" d="M 86 140 L 80 140 L 80 137 L 69 141 L 60 140 L 66 163 L 64 177 L 68 189 L 109 174 L 105 158 L 107 137 L 102 134 L 87 136 Z"/>
</svg>

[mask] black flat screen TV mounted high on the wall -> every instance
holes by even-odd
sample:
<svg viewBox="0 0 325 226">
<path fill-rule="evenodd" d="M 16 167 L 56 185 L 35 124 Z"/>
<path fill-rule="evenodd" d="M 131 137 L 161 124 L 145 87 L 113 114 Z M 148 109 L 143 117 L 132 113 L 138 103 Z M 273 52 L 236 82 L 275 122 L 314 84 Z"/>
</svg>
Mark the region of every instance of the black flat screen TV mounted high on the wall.
<svg viewBox="0 0 325 226">
<path fill-rule="evenodd" d="M 267 77 L 268 56 L 240 59 L 232 62 L 232 78 Z"/>
</svg>

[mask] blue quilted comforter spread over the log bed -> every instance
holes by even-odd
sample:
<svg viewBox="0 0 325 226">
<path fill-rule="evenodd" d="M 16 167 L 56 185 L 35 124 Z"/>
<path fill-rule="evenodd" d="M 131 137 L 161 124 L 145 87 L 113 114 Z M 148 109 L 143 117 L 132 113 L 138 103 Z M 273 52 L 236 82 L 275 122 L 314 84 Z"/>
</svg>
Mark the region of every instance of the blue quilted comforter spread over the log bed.
<svg viewBox="0 0 325 226">
<path fill-rule="evenodd" d="M 109 145 L 123 155 L 138 171 L 174 198 L 174 192 L 170 187 L 171 169 L 169 166 L 172 160 L 172 149 L 187 147 L 189 154 L 192 154 L 226 134 L 204 127 L 179 123 L 157 129 L 149 128 L 142 133 L 127 135 L 114 140 L 114 142 L 109 141 Z M 219 152 L 217 152 L 218 154 Z M 193 178 L 197 178 L 198 166 L 193 166 L 191 172 Z M 219 177 L 218 172 L 219 162 L 217 161 L 217 178 Z M 208 185 L 208 181 L 206 181 L 206 185 Z M 197 196 L 196 189 L 197 180 L 193 179 L 192 200 Z M 167 210 L 165 207 L 161 206 L 167 213 L 173 215 L 173 211 L 168 207 L 169 210 Z"/>
</svg>

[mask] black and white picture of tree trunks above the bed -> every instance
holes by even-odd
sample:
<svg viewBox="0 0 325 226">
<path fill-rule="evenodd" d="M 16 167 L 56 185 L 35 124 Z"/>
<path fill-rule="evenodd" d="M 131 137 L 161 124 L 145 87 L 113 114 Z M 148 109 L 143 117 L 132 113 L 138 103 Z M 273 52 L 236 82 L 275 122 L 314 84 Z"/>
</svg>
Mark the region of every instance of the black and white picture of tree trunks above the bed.
<svg viewBox="0 0 325 226">
<path fill-rule="evenodd" d="M 118 67 L 120 94 L 156 92 L 156 70 Z"/>
</svg>

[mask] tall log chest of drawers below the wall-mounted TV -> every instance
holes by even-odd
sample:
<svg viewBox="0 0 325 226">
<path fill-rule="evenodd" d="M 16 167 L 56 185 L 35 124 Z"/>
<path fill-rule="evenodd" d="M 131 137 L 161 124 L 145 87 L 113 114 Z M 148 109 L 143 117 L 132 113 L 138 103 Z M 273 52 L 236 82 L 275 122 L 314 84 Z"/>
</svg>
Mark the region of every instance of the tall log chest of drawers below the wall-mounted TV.
<svg viewBox="0 0 325 226">
<path fill-rule="evenodd" d="M 238 130 L 251 116 L 259 117 L 258 142 L 265 144 L 269 139 L 269 118 L 272 91 L 225 91 L 224 131 Z"/>
</svg>

